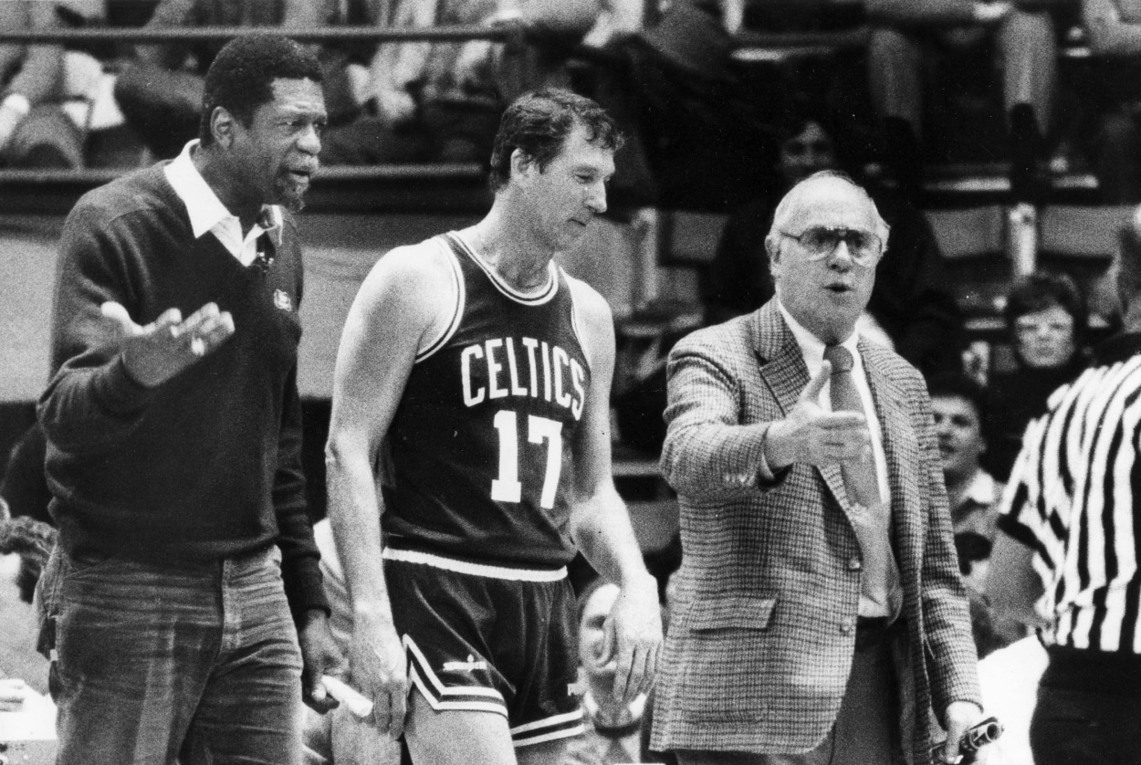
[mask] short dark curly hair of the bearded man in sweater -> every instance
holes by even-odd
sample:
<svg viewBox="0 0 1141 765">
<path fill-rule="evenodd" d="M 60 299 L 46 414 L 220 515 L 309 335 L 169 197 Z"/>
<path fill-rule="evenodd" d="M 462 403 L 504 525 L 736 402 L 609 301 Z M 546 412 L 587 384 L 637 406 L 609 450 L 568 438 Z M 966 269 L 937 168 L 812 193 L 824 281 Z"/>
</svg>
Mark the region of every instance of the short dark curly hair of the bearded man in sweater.
<svg viewBox="0 0 1141 765">
<path fill-rule="evenodd" d="M 205 76 L 199 138 L 213 143 L 210 118 L 221 106 L 249 127 L 259 106 L 274 99 L 274 80 L 322 81 L 317 56 L 277 34 L 243 34 L 226 43 Z"/>
</svg>

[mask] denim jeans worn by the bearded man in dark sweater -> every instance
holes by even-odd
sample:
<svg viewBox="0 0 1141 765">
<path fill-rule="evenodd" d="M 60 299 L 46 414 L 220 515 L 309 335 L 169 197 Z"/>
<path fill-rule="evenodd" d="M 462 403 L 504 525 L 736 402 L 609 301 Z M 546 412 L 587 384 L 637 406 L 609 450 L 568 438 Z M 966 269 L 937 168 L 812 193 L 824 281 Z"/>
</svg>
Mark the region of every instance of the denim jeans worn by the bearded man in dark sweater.
<svg viewBox="0 0 1141 765">
<path fill-rule="evenodd" d="M 157 565 L 56 550 L 57 765 L 301 762 L 301 654 L 276 547 Z"/>
</svg>

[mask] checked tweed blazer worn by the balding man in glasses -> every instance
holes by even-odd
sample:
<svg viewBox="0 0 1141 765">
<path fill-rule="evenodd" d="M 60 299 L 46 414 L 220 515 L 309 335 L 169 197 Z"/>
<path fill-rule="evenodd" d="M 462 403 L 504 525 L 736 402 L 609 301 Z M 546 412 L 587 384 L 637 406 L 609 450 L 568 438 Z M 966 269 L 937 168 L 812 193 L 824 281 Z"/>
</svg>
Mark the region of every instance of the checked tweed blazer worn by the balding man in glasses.
<svg viewBox="0 0 1141 765">
<path fill-rule="evenodd" d="M 977 657 L 930 400 L 901 357 L 861 340 L 882 428 L 906 637 L 900 732 L 930 762 L 939 715 L 979 702 Z M 669 362 L 662 473 L 681 504 L 682 564 L 658 670 L 653 748 L 802 752 L 832 728 L 855 652 L 860 548 L 839 464 L 762 481 L 762 433 L 808 385 L 775 300 L 698 330 Z M 911 746 L 908 746 L 908 743 Z"/>
</svg>

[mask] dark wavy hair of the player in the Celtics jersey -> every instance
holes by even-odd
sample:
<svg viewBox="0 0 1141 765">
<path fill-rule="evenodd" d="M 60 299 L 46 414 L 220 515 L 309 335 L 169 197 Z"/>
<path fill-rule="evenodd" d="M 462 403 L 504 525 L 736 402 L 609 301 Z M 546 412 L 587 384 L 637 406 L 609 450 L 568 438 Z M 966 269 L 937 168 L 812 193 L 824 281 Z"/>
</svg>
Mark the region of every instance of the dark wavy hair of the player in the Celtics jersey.
<svg viewBox="0 0 1141 765">
<path fill-rule="evenodd" d="M 503 112 L 495 144 L 488 183 L 497 192 L 511 177 L 511 154 L 521 151 L 540 171 L 563 151 L 575 126 L 586 129 L 586 140 L 594 146 L 618 151 L 625 136 L 597 103 L 560 88 L 532 90 L 516 98 Z"/>
</svg>

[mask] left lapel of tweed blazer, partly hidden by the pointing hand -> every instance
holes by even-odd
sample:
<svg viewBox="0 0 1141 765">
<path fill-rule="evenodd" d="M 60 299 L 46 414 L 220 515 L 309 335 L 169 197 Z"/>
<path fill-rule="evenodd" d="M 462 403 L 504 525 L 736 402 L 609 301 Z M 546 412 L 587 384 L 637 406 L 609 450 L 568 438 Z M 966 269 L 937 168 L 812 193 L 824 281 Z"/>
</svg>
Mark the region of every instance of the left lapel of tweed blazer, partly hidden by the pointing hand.
<svg viewBox="0 0 1141 765">
<path fill-rule="evenodd" d="M 759 311 L 753 313 L 751 324 L 753 332 L 753 349 L 760 364 L 761 379 L 780 404 L 785 416 L 796 405 L 796 398 L 808 385 L 808 367 L 788 327 L 777 308 L 777 299 L 772 298 Z M 848 493 L 844 491 L 844 480 L 840 465 L 826 465 L 818 468 L 820 477 L 836 501 L 848 513 Z"/>
</svg>

